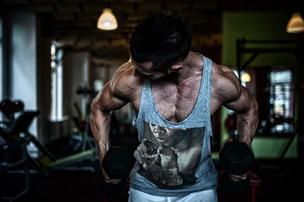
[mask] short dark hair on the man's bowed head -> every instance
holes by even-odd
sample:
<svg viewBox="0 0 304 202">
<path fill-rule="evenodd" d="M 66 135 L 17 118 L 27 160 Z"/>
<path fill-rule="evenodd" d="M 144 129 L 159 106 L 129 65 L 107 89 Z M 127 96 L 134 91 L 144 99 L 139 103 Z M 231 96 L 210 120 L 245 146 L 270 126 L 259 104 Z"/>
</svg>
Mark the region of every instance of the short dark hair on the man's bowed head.
<svg viewBox="0 0 304 202">
<path fill-rule="evenodd" d="M 135 62 L 153 62 L 158 70 L 167 71 L 169 65 L 186 58 L 191 40 L 191 32 L 180 16 L 158 12 L 135 26 L 130 54 Z"/>
</svg>

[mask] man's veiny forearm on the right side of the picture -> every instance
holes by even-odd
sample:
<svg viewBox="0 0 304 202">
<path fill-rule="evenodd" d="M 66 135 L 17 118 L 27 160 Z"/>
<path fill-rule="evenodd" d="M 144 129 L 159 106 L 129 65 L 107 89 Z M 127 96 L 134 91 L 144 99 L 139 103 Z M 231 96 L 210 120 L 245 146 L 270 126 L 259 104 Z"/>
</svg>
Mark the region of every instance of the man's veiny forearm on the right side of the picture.
<svg viewBox="0 0 304 202">
<path fill-rule="evenodd" d="M 258 124 L 257 102 L 252 101 L 253 106 L 249 111 L 237 114 L 239 141 L 246 142 L 248 146 L 251 145 Z"/>
</svg>

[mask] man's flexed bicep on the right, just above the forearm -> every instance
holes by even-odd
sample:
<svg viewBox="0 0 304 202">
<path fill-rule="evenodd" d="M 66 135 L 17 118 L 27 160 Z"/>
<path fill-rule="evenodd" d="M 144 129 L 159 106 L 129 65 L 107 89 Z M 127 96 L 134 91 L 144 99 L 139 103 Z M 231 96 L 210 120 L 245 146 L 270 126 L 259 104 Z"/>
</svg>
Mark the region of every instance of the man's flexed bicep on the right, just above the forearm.
<svg viewBox="0 0 304 202">
<path fill-rule="evenodd" d="M 239 91 L 240 92 L 235 92 L 237 95 L 233 96 L 235 99 L 224 102 L 222 105 L 238 113 L 249 111 L 252 107 L 254 107 L 254 100 L 249 95 L 248 90 L 241 84 Z"/>
</svg>

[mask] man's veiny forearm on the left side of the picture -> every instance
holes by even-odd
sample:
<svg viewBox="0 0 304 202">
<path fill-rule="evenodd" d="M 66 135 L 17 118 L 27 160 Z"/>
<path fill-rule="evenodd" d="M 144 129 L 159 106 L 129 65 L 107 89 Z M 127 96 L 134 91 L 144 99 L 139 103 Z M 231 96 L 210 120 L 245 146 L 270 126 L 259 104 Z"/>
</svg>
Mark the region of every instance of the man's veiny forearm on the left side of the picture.
<svg viewBox="0 0 304 202">
<path fill-rule="evenodd" d="M 95 142 L 100 152 L 106 152 L 109 149 L 109 131 L 111 116 L 109 113 L 92 107 L 90 124 Z"/>
</svg>

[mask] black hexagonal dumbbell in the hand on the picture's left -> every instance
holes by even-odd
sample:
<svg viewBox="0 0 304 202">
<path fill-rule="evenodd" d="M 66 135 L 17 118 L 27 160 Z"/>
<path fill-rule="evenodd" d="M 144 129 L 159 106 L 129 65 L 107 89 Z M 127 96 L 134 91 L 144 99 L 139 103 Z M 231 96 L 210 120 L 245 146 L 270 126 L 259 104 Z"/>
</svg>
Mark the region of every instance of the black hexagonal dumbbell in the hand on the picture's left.
<svg viewBox="0 0 304 202">
<path fill-rule="evenodd" d="M 121 194 L 135 162 L 133 153 L 127 147 L 110 147 L 102 159 L 101 167 L 110 179 L 121 181 L 117 184 L 106 183 L 101 174 L 98 188 L 104 197 L 116 197 Z"/>
</svg>

